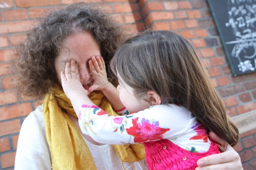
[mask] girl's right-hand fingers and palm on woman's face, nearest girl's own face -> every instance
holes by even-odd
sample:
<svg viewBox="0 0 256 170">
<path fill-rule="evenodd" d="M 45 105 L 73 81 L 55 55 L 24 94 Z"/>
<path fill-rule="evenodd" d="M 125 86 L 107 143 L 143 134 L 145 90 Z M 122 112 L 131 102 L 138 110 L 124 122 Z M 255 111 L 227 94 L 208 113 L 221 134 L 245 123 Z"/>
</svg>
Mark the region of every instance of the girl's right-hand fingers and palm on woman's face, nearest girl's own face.
<svg viewBox="0 0 256 170">
<path fill-rule="evenodd" d="M 89 67 L 90 67 L 91 74 L 94 78 L 94 85 L 92 85 L 88 89 L 88 91 L 89 92 L 92 92 L 94 90 L 103 91 L 105 88 L 107 88 L 107 85 L 109 84 L 103 57 L 93 56 L 89 61 Z"/>
</svg>

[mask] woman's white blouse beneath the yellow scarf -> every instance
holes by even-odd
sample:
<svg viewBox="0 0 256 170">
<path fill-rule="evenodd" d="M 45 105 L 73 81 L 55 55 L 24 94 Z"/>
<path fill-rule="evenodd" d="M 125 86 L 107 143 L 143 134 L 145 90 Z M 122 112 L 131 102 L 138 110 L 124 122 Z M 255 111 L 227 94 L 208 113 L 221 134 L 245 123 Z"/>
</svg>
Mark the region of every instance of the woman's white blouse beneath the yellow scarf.
<svg viewBox="0 0 256 170">
<path fill-rule="evenodd" d="M 129 163 L 120 160 L 111 145 L 97 146 L 84 138 L 98 170 L 147 170 L 146 161 Z M 31 112 L 22 123 L 15 158 L 16 170 L 51 170 L 50 149 L 45 136 L 43 105 Z"/>
</svg>

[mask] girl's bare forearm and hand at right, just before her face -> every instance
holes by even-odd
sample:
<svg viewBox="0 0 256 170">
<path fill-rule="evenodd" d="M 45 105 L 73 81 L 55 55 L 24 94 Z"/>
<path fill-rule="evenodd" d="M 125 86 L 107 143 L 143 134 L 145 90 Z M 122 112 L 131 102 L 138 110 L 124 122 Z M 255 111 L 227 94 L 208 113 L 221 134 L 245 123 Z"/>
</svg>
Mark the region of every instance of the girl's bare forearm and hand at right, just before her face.
<svg viewBox="0 0 256 170">
<path fill-rule="evenodd" d="M 94 85 L 89 88 L 89 92 L 94 90 L 101 90 L 105 97 L 111 103 L 111 106 L 115 110 L 124 108 L 120 98 L 119 92 L 114 85 L 112 85 L 107 78 L 106 66 L 103 57 L 92 57 L 89 61 L 89 67 L 94 77 Z"/>
</svg>

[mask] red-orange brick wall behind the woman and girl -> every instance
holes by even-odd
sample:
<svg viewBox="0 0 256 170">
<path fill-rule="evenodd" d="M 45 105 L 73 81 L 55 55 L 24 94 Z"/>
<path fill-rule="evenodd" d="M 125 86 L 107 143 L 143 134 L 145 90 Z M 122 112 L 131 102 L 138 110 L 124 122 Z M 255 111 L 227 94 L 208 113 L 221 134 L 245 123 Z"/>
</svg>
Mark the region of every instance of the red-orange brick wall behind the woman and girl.
<svg viewBox="0 0 256 170">
<path fill-rule="evenodd" d="M 10 85 L 9 56 L 25 37 L 34 18 L 55 7 L 81 0 L 1 0 L 0 1 L 0 169 L 13 169 L 19 130 L 25 117 L 40 104 L 24 98 Z M 173 30 L 188 39 L 201 55 L 212 83 L 225 101 L 228 114 L 244 114 L 256 109 L 256 73 L 233 77 L 219 33 L 206 0 L 87 0 L 106 2 L 109 15 L 135 35 L 144 25 L 156 30 Z M 234 147 L 245 170 L 256 169 L 256 129 L 241 134 Z"/>
</svg>

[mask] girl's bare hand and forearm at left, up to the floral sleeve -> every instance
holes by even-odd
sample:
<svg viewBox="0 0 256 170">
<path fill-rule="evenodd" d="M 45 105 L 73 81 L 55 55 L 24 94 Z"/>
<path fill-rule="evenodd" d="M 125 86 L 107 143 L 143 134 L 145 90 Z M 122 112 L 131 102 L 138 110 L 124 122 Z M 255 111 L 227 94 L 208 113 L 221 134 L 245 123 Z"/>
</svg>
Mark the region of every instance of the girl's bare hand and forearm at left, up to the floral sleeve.
<svg viewBox="0 0 256 170">
<path fill-rule="evenodd" d="M 65 74 L 61 72 L 60 77 L 63 91 L 71 101 L 77 115 L 83 104 L 94 105 L 87 96 L 89 92 L 84 89 L 80 82 L 78 68 L 74 60 L 66 63 Z"/>
</svg>

